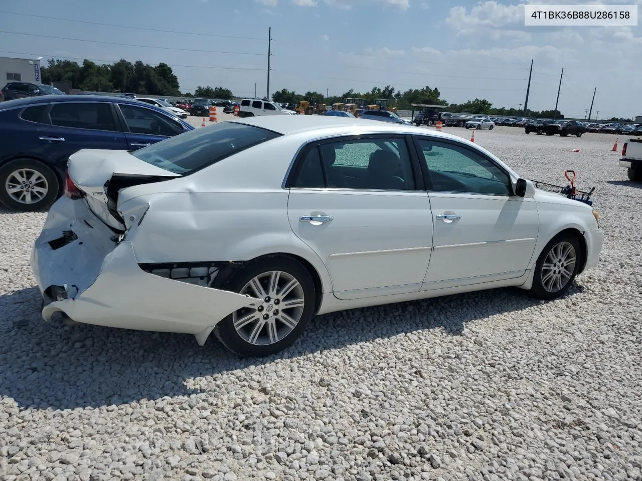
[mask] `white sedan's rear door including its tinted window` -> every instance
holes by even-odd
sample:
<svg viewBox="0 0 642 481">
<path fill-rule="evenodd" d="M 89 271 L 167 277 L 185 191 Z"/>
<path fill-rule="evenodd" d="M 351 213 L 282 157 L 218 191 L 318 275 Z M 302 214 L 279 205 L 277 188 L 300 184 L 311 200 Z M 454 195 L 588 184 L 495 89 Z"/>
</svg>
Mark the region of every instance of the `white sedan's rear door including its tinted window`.
<svg viewBox="0 0 642 481">
<path fill-rule="evenodd" d="M 433 219 L 408 142 L 403 135 L 314 142 L 288 179 L 291 228 L 323 260 L 340 299 L 421 289 Z"/>
</svg>

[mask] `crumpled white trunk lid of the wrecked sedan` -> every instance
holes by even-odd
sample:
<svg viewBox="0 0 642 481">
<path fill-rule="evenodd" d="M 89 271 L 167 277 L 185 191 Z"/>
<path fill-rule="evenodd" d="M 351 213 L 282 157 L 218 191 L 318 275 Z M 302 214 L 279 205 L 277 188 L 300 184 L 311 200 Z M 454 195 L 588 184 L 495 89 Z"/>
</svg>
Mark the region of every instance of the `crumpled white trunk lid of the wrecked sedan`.
<svg viewBox="0 0 642 481">
<path fill-rule="evenodd" d="M 91 211 L 110 228 L 124 232 L 117 210 L 121 189 L 180 177 L 121 150 L 82 149 L 69 157 L 67 176 Z"/>
</svg>

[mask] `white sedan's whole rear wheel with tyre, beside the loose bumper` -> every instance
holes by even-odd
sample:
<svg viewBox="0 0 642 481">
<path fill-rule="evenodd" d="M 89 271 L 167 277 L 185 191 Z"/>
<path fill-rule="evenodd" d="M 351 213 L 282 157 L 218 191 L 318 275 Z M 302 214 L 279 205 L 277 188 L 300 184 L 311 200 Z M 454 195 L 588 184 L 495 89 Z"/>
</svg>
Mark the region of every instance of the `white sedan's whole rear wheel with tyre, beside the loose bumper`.
<svg viewBox="0 0 642 481">
<path fill-rule="evenodd" d="M 225 283 L 227 291 L 262 301 L 225 317 L 214 328 L 229 350 L 246 357 L 268 356 L 291 346 L 315 307 L 315 284 L 302 264 L 285 256 L 248 263 Z"/>
</svg>

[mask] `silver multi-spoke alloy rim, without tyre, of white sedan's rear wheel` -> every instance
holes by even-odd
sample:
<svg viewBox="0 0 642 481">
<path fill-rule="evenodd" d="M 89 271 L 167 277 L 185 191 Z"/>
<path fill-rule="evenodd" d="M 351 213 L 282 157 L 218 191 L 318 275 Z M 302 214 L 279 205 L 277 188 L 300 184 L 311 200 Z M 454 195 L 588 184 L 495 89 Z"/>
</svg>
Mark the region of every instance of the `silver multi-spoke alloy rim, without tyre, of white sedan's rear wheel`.
<svg viewBox="0 0 642 481">
<path fill-rule="evenodd" d="M 262 301 L 232 314 L 234 329 L 246 342 L 266 346 L 288 336 L 299 323 L 305 307 L 300 282 L 283 271 L 269 271 L 252 278 L 241 294 Z"/>
</svg>

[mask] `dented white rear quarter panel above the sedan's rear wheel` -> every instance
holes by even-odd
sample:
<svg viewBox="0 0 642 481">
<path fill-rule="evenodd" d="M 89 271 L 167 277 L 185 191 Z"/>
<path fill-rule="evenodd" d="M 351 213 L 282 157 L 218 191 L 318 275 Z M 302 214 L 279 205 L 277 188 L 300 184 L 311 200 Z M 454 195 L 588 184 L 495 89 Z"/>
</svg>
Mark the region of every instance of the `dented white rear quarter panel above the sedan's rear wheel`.
<svg viewBox="0 0 642 481">
<path fill-rule="evenodd" d="M 286 253 L 307 260 L 323 291 L 332 292 L 324 262 L 288 221 L 290 192 L 282 183 L 304 142 L 297 137 L 279 137 L 188 176 L 123 189 L 120 212 L 150 206 L 126 235 L 138 262 L 247 261 Z"/>
</svg>

